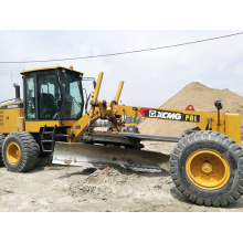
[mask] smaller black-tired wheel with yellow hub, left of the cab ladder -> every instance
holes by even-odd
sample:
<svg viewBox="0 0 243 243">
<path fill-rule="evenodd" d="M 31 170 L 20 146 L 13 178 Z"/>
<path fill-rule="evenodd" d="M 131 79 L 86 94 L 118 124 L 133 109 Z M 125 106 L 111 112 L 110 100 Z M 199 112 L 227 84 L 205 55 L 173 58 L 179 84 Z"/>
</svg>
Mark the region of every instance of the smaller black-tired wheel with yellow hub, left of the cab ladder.
<svg viewBox="0 0 243 243">
<path fill-rule="evenodd" d="M 38 162 L 40 148 L 31 134 L 9 134 L 2 146 L 3 163 L 9 171 L 27 172 Z"/>
</svg>

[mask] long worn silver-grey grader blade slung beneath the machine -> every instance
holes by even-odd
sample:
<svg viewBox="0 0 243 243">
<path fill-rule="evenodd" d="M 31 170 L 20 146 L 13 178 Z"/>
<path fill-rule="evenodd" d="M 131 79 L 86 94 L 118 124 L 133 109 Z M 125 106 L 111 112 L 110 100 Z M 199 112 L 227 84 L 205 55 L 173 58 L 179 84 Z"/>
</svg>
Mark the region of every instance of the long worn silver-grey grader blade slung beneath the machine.
<svg viewBox="0 0 243 243">
<path fill-rule="evenodd" d="M 160 165 L 168 161 L 169 155 L 160 152 L 82 142 L 56 142 L 52 162 L 96 168 L 120 166 L 160 170 Z"/>
</svg>

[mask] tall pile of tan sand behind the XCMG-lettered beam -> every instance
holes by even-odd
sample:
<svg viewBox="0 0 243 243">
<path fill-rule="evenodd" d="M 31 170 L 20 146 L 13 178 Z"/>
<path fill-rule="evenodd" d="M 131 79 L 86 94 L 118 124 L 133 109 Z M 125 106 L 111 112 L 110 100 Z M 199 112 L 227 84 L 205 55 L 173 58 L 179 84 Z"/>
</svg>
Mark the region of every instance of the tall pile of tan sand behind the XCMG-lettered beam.
<svg viewBox="0 0 243 243">
<path fill-rule="evenodd" d="M 215 113 L 216 109 L 214 107 L 214 102 L 216 99 L 223 99 L 222 113 L 236 113 L 241 115 L 241 126 L 243 131 L 243 96 L 240 96 L 228 88 L 214 89 L 199 82 L 192 82 L 186 85 L 159 108 L 184 110 L 188 105 L 192 105 L 196 112 Z M 181 136 L 183 130 L 193 128 L 196 125 L 187 122 L 147 118 L 140 123 L 138 127 L 141 134 Z"/>
</svg>

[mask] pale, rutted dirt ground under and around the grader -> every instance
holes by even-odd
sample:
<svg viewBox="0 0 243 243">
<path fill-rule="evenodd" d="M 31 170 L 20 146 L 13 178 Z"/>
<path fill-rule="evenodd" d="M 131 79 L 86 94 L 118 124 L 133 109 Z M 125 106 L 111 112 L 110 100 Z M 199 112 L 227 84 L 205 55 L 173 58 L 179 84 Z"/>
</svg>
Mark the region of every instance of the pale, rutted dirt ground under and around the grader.
<svg viewBox="0 0 243 243">
<path fill-rule="evenodd" d="M 175 144 L 145 142 L 146 149 L 170 152 Z M 168 163 L 162 171 L 56 166 L 40 160 L 27 173 L 0 168 L 1 212 L 214 212 L 243 211 L 243 199 L 230 208 L 198 207 L 173 186 Z"/>
</svg>

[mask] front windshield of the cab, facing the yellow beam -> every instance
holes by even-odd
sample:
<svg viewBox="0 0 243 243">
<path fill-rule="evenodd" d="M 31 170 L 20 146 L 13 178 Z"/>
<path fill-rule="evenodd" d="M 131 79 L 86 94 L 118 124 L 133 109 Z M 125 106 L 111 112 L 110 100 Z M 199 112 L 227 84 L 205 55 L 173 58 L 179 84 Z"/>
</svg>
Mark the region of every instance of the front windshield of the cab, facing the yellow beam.
<svg viewBox="0 0 243 243">
<path fill-rule="evenodd" d="M 63 106 L 63 119 L 80 119 L 83 112 L 83 93 L 80 74 L 62 73 L 65 103 Z"/>
</svg>

